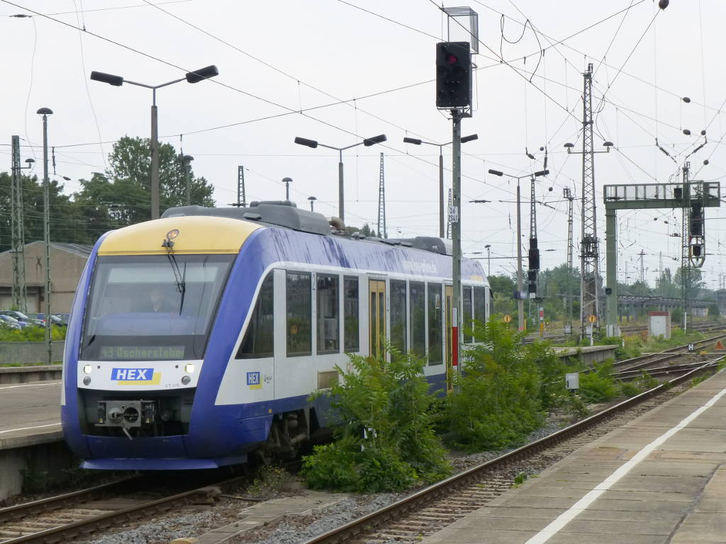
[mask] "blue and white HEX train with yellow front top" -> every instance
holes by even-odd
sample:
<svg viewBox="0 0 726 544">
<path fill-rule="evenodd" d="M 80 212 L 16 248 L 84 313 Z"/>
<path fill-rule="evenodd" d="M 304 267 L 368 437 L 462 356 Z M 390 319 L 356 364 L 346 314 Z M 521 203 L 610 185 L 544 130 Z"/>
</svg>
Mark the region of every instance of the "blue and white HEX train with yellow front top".
<svg viewBox="0 0 726 544">
<path fill-rule="evenodd" d="M 179 207 L 111 231 L 70 314 L 65 440 L 86 469 L 295 453 L 327 426 L 308 398 L 346 353 L 378 354 L 387 338 L 445 387 L 451 271 L 439 238 L 346 236 L 289 202 Z M 464 320 L 488 318 L 490 297 L 481 265 L 462 260 Z"/>
</svg>

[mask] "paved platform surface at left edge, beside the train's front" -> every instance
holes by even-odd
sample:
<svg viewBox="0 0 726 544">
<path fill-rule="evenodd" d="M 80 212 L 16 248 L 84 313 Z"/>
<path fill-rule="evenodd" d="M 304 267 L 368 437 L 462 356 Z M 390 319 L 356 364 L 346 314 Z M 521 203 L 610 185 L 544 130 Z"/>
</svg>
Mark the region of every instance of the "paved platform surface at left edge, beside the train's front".
<svg viewBox="0 0 726 544">
<path fill-rule="evenodd" d="M 0 385 L 0 450 L 57 440 L 60 382 Z"/>
</svg>

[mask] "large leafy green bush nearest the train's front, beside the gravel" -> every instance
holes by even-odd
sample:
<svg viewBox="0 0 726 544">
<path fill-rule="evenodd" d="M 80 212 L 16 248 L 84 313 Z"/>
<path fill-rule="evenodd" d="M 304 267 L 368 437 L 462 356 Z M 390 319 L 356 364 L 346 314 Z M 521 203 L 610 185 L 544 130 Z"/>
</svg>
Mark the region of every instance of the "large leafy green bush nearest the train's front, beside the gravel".
<svg viewBox="0 0 726 544">
<path fill-rule="evenodd" d="M 329 392 L 343 425 L 335 442 L 303 458 L 302 474 L 314 489 L 359 493 L 404 490 L 451 471 L 446 450 L 433 432 L 423 360 L 389 348 L 385 358 L 350 355 L 351 372 Z"/>
</svg>

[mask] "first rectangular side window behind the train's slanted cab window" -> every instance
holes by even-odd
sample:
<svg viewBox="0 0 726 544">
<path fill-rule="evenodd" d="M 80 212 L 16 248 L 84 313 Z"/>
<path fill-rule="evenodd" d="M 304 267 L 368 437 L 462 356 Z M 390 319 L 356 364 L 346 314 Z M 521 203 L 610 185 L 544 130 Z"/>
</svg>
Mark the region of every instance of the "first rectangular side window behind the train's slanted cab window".
<svg viewBox="0 0 726 544">
<path fill-rule="evenodd" d="M 311 280 L 309 272 L 287 272 L 287 356 L 311 355 Z"/>
</svg>

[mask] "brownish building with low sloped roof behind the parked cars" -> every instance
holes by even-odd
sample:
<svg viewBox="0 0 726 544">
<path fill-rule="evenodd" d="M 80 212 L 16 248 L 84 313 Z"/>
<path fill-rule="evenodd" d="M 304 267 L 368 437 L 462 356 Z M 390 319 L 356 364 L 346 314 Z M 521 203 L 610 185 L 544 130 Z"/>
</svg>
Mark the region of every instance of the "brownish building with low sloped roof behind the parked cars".
<svg viewBox="0 0 726 544">
<path fill-rule="evenodd" d="M 25 244 L 25 287 L 28 312 L 45 311 L 45 242 Z M 78 280 L 91 255 L 91 246 L 50 243 L 51 310 L 70 312 Z M 12 252 L 0 253 L 0 310 L 12 306 Z"/>
</svg>

